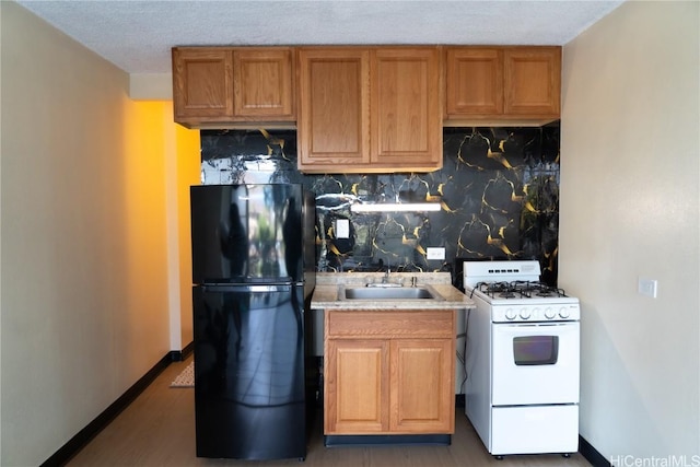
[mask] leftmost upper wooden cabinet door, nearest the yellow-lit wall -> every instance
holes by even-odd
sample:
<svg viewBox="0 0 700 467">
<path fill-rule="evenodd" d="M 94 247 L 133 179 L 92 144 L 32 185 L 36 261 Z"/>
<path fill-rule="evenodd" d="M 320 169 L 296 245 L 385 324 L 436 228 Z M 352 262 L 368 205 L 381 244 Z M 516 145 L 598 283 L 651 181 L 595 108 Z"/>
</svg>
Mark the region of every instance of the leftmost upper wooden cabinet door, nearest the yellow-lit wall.
<svg viewBox="0 0 700 467">
<path fill-rule="evenodd" d="M 173 49 L 175 121 L 225 121 L 233 116 L 233 56 L 225 48 Z"/>
</svg>

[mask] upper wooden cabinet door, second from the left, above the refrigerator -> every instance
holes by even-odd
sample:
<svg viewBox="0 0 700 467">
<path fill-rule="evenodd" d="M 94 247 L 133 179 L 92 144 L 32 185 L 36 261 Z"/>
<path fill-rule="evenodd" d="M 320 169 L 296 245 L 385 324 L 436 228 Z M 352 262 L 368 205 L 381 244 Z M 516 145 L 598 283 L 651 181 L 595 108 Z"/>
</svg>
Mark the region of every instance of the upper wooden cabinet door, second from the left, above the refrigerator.
<svg viewBox="0 0 700 467">
<path fill-rule="evenodd" d="M 236 119 L 293 121 L 293 70 L 291 48 L 234 49 L 233 103 Z"/>
</svg>

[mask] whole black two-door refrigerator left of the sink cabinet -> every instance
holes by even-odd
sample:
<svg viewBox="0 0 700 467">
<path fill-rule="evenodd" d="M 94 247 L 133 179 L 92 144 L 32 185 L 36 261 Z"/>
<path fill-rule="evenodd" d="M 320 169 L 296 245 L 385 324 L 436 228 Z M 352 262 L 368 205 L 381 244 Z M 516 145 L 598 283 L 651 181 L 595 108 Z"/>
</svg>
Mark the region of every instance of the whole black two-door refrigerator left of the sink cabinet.
<svg viewBox="0 0 700 467">
<path fill-rule="evenodd" d="M 293 184 L 202 185 L 190 201 L 197 456 L 304 459 L 314 196 Z"/>
</svg>

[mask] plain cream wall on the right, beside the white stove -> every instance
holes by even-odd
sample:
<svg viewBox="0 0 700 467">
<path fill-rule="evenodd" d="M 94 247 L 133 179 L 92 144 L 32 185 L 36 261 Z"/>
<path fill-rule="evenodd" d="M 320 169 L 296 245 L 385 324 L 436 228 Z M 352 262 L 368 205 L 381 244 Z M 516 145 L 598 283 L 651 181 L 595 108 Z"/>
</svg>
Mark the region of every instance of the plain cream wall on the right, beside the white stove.
<svg viewBox="0 0 700 467">
<path fill-rule="evenodd" d="M 699 9 L 628 1 L 563 50 L 559 282 L 581 434 L 616 465 L 700 455 Z"/>
</svg>

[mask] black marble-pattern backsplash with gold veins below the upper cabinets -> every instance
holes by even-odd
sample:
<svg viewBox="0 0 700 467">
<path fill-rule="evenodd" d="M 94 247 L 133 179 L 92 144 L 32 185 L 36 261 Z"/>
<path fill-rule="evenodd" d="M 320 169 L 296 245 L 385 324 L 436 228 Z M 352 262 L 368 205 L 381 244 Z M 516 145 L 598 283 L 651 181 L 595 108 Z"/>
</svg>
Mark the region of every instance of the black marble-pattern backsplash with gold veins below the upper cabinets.
<svg viewBox="0 0 700 467">
<path fill-rule="evenodd" d="M 445 128 L 443 168 L 307 175 L 293 130 L 202 130 L 202 184 L 301 183 L 316 195 L 319 271 L 450 271 L 460 259 L 538 259 L 557 282 L 559 126 Z M 440 202 L 435 212 L 351 212 L 358 202 Z M 349 223 L 338 238 L 337 221 Z M 427 259 L 444 247 L 445 260 Z"/>
</svg>

